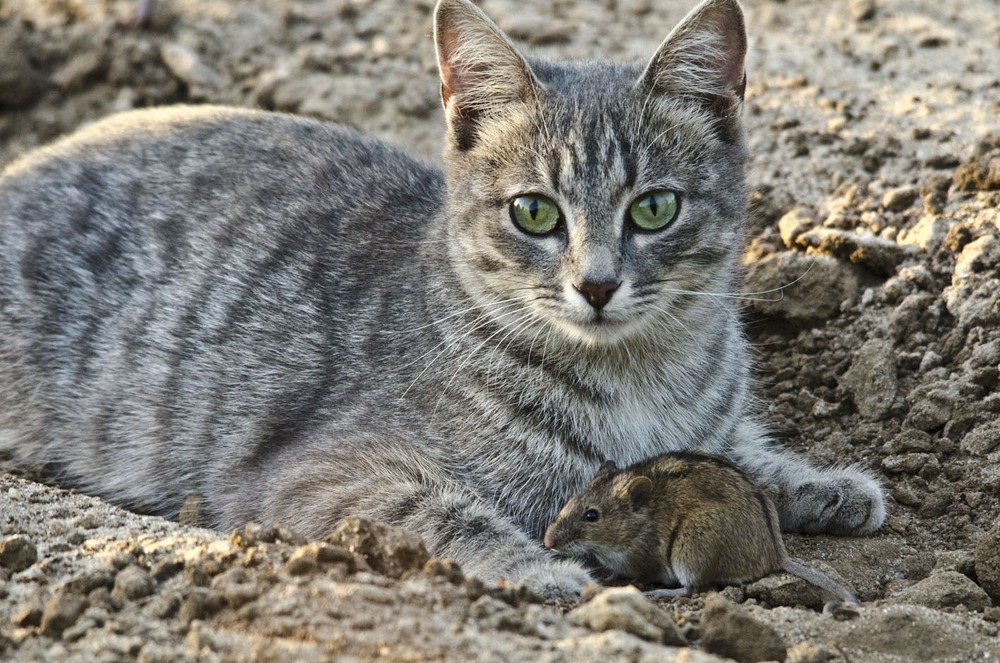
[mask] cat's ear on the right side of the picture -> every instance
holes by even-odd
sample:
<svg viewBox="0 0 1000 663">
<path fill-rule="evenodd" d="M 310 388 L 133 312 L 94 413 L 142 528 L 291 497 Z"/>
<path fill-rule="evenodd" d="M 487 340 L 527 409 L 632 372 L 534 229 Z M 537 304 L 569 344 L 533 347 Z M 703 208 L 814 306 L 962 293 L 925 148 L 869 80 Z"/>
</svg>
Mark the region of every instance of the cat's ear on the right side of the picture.
<svg viewBox="0 0 1000 663">
<path fill-rule="evenodd" d="M 705 0 L 660 45 L 639 84 L 704 104 L 722 118 L 743 101 L 747 51 L 743 9 L 737 0 Z"/>
</svg>

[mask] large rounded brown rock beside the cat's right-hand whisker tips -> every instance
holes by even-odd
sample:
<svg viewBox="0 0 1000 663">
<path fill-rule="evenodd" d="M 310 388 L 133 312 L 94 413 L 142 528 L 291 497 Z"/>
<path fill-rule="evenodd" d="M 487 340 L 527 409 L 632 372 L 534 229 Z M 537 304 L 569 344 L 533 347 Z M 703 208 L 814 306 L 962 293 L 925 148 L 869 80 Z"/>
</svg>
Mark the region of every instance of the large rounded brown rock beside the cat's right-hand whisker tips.
<svg viewBox="0 0 1000 663">
<path fill-rule="evenodd" d="M 754 293 L 754 310 L 791 322 L 827 320 L 858 296 L 854 267 L 827 256 L 777 253 L 751 263 L 746 290 Z"/>
</svg>

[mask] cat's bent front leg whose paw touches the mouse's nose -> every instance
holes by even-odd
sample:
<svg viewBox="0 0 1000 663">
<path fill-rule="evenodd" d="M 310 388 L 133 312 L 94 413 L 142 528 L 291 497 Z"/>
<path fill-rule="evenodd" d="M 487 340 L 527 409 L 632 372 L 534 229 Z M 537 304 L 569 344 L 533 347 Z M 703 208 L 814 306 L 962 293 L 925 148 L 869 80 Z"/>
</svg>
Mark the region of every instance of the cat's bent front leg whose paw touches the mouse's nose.
<svg viewBox="0 0 1000 663">
<path fill-rule="evenodd" d="M 266 482 L 263 513 L 242 518 L 281 522 L 309 537 L 325 535 L 347 515 L 399 525 L 466 575 L 524 584 L 544 598 L 577 597 L 593 580 L 583 565 L 557 558 L 412 445 L 367 439 L 355 453 L 352 447 L 296 453 L 294 471 Z"/>
</svg>

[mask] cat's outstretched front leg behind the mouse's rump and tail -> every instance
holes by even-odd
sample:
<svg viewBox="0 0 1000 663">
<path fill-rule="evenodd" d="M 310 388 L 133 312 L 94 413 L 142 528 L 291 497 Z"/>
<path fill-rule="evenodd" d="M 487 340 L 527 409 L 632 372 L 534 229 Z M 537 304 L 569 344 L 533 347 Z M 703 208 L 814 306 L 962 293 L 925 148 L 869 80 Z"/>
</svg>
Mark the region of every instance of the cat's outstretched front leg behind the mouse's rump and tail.
<svg viewBox="0 0 1000 663">
<path fill-rule="evenodd" d="M 727 455 L 767 487 L 786 532 L 862 535 L 885 522 L 882 486 L 866 470 L 817 467 L 770 446 L 752 422 L 742 427 Z"/>
</svg>

